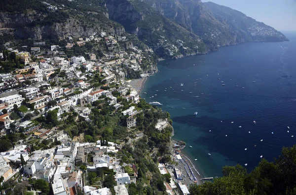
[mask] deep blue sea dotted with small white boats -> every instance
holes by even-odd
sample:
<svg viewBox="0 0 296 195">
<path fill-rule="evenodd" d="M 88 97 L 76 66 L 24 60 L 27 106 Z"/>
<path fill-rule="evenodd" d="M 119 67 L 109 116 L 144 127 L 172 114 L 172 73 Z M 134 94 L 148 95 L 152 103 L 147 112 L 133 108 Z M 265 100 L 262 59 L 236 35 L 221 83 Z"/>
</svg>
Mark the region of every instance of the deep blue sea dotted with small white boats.
<svg viewBox="0 0 296 195">
<path fill-rule="evenodd" d="M 186 142 L 184 152 L 203 176 L 221 176 L 225 165 L 251 171 L 261 155 L 272 161 L 296 144 L 296 33 L 285 35 L 290 41 L 163 60 L 146 81 L 141 97 L 163 104 L 173 139 Z"/>
</svg>

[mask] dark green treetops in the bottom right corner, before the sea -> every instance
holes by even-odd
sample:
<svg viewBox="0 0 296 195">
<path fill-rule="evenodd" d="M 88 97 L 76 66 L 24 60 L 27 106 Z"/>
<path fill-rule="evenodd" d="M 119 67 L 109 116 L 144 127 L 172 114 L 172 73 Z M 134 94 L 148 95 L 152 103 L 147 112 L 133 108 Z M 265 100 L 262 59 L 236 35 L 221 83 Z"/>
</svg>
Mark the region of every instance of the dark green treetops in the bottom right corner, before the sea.
<svg viewBox="0 0 296 195">
<path fill-rule="evenodd" d="M 296 195 L 296 146 L 284 147 L 275 162 L 262 159 L 250 173 L 240 165 L 222 172 L 213 183 L 191 185 L 190 195 Z"/>
</svg>

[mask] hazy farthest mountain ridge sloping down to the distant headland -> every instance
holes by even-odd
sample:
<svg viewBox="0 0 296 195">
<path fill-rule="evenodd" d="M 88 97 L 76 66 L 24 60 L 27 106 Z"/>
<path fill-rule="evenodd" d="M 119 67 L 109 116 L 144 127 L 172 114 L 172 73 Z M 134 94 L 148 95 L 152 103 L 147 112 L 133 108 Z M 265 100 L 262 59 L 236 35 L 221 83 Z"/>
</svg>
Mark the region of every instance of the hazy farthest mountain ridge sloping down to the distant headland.
<svg viewBox="0 0 296 195">
<path fill-rule="evenodd" d="M 247 41 L 286 41 L 281 32 L 245 14 L 201 0 L 146 0 L 159 13 L 199 35 L 211 49 Z"/>
</svg>

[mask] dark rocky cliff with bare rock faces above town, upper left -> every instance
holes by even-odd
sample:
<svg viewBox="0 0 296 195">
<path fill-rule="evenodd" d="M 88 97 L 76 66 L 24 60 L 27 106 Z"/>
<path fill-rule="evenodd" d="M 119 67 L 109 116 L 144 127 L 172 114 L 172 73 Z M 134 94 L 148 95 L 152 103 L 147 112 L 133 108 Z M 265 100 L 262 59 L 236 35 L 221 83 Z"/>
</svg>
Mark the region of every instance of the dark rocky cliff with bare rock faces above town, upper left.
<svg viewBox="0 0 296 195">
<path fill-rule="evenodd" d="M 4 0 L 0 7 L 0 34 L 18 39 L 59 39 L 105 31 L 122 35 L 125 30 L 108 19 L 106 9 L 92 0 Z"/>
</svg>

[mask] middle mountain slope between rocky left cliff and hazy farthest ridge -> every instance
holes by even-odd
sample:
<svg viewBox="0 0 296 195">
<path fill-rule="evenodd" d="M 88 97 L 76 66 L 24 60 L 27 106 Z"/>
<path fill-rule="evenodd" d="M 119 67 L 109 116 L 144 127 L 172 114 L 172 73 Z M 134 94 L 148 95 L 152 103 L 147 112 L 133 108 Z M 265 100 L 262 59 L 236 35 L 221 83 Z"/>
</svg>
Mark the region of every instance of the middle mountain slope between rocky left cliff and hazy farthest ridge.
<svg viewBox="0 0 296 195">
<path fill-rule="evenodd" d="M 151 47 L 158 56 L 206 53 L 197 35 L 157 13 L 140 0 L 106 0 L 109 18 Z"/>
</svg>

